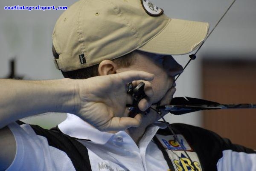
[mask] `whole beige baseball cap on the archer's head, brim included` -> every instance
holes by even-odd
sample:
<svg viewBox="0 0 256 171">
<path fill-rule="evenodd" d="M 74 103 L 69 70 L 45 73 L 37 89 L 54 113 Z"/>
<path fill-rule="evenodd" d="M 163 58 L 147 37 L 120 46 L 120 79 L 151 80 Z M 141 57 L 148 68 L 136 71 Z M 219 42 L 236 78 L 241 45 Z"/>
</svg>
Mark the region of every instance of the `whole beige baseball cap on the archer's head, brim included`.
<svg viewBox="0 0 256 171">
<path fill-rule="evenodd" d="M 55 65 L 73 71 L 136 49 L 187 54 L 201 45 L 208 30 L 208 23 L 169 18 L 148 0 L 79 0 L 55 24 Z"/>
</svg>

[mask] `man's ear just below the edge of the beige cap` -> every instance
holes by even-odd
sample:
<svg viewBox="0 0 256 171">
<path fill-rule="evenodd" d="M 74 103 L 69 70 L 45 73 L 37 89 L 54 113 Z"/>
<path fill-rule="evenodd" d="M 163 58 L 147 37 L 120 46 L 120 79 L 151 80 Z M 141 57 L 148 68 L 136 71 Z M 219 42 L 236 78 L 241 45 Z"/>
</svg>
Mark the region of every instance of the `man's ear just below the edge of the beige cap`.
<svg viewBox="0 0 256 171">
<path fill-rule="evenodd" d="M 116 74 L 117 66 L 111 60 L 103 60 L 99 63 L 98 72 L 99 75 Z"/>
</svg>

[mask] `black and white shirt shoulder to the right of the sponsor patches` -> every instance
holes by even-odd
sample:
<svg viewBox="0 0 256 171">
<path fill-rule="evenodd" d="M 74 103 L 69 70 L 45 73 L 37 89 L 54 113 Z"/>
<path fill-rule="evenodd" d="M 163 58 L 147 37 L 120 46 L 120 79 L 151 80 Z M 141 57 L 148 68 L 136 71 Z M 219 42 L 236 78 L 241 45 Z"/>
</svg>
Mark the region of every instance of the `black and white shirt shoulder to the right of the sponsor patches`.
<svg viewBox="0 0 256 171">
<path fill-rule="evenodd" d="M 248 162 L 256 159 L 256 151 L 233 144 L 227 138 L 222 138 L 213 131 L 183 123 L 174 123 L 169 126 L 175 134 L 181 135 L 185 139 L 184 141 L 188 143 L 192 151 L 197 153 L 205 170 L 213 168 L 215 168 L 213 170 L 217 170 L 216 167 L 227 167 L 232 170 L 232 165 L 239 167 L 244 165 L 246 162 L 243 159 L 248 158 Z M 157 134 L 172 135 L 168 128 L 159 130 Z"/>
</svg>

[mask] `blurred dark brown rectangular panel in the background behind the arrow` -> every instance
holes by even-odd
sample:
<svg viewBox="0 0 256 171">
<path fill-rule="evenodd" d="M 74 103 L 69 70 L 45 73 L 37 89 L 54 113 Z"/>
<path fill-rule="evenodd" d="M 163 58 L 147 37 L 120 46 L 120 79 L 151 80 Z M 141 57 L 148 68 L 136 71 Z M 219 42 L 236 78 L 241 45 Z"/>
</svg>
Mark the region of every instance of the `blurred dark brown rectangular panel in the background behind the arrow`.
<svg viewBox="0 0 256 171">
<path fill-rule="evenodd" d="M 224 54 L 203 60 L 203 97 L 219 103 L 256 103 L 256 60 Z M 247 58 L 248 59 L 248 58 Z M 204 111 L 204 128 L 233 143 L 256 149 L 256 109 Z"/>
</svg>

